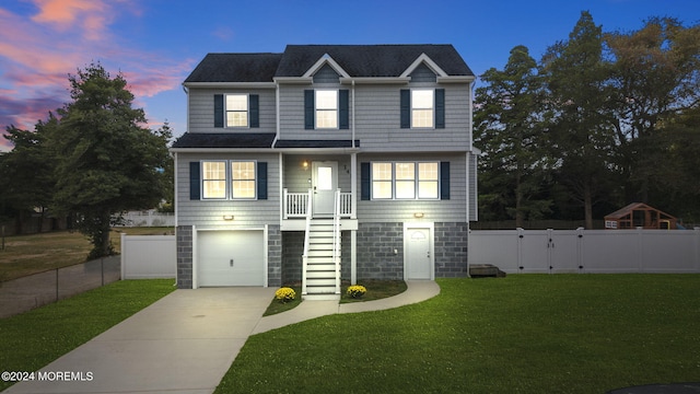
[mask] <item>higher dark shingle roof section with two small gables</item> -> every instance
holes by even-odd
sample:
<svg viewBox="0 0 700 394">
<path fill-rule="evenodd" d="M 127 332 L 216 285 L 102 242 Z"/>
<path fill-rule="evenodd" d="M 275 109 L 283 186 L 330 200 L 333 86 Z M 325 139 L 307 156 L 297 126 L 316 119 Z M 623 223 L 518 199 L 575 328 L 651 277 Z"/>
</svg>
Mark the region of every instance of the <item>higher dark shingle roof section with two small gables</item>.
<svg viewBox="0 0 700 394">
<path fill-rule="evenodd" d="M 351 77 L 399 77 L 422 54 L 448 76 L 474 76 L 452 45 L 288 45 L 275 77 L 302 77 L 324 55 Z"/>
</svg>

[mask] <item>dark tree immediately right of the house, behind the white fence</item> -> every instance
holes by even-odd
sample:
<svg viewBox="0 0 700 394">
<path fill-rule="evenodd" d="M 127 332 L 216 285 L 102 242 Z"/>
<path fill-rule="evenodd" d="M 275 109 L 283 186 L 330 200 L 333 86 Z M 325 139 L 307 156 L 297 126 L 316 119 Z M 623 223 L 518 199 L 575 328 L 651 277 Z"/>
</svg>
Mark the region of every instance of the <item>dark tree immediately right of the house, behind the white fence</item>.
<svg viewBox="0 0 700 394">
<path fill-rule="evenodd" d="M 515 218 L 539 219 L 551 200 L 541 198 L 547 169 L 542 126 L 541 80 L 537 63 L 525 46 L 511 49 L 502 71 L 487 70 L 487 84 L 475 95 L 475 142 L 482 149 L 481 201 L 485 211 Z"/>
</svg>

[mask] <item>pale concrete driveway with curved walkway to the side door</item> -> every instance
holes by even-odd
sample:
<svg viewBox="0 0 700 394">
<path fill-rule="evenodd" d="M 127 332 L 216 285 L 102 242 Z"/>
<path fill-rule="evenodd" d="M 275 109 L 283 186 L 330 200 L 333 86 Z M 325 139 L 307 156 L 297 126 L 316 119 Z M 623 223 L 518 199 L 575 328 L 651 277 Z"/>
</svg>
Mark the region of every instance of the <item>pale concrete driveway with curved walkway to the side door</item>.
<svg viewBox="0 0 700 394">
<path fill-rule="evenodd" d="M 43 368 L 46 380 L 21 382 L 3 393 L 212 393 L 249 335 L 334 313 L 397 308 L 440 293 L 433 281 L 408 281 L 407 291 L 384 300 L 340 305 L 304 301 L 261 317 L 275 290 L 176 290 Z"/>
</svg>

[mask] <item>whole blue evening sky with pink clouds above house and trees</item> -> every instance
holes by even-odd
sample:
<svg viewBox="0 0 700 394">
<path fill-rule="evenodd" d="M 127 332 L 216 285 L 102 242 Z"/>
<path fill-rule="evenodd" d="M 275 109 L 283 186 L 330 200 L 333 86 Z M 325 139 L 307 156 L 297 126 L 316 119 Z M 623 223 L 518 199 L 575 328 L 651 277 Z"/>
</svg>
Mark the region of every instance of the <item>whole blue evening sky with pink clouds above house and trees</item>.
<svg viewBox="0 0 700 394">
<path fill-rule="evenodd" d="M 208 53 L 282 53 L 288 44 L 452 44 L 480 76 L 510 50 L 539 59 L 582 11 L 604 32 L 650 16 L 700 23 L 700 0 L 1 0 L 0 132 L 70 102 L 69 74 L 121 72 L 148 127 L 187 131 L 182 82 Z M 477 82 L 478 83 L 478 82 Z M 0 138 L 0 151 L 12 147 Z"/>
</svg>

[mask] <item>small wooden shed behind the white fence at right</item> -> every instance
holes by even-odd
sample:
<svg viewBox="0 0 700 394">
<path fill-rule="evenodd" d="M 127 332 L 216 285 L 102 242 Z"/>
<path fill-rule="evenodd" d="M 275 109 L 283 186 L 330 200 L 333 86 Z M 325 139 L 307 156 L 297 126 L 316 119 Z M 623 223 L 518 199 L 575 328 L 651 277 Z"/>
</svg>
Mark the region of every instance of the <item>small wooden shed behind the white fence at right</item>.
<svg viewBox="0 0 700 394">
<path fill-rule="evenodd" d="M 676 218 L 643 202 L 632 202 L 622 209 L 605 216 L 605 228 L 611 230 L 676 229 Z"/>
</svg>

